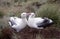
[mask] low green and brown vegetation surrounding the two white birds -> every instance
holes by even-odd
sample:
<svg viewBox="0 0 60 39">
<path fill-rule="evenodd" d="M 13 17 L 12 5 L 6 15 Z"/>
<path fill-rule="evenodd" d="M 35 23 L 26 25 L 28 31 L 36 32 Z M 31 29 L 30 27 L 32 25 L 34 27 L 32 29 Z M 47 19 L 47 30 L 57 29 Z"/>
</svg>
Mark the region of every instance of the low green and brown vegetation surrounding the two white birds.
<svg viewBox="0 0 60 39">
<path fill-rule="evenodd" d="M 60 0 L 6 0 L 0 5 L 0 8 L 2 7 L 0 9 L 0 39 L 60 39 Z M 44 30 L 26 27 L 19 33 L 11 31 L 8 25 L 9 17 L 20 17 L 26 7 L 30 7 L 37 17 L 52 19 L 54 25 Z"/>
</svg>

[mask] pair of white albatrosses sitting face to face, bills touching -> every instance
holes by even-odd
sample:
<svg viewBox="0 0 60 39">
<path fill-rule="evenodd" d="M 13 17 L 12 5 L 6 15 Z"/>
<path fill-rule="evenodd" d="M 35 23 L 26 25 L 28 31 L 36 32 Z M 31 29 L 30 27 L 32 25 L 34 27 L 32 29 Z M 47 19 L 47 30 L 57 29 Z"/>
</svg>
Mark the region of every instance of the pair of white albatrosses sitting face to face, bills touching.
<svg viewBox="0 0 60 39">
<path fill-rule="evenodd" d="M 28 16 L 28 20 L 27 20 Z M 44 29 L 51 25 L 53 21 L 48 18 L 35 17 L 34 13 L 22 13 L 21 18 L 10 17 L 9 25 L 17 32 L 28 25 L 31 28 Z"/>
</svg>

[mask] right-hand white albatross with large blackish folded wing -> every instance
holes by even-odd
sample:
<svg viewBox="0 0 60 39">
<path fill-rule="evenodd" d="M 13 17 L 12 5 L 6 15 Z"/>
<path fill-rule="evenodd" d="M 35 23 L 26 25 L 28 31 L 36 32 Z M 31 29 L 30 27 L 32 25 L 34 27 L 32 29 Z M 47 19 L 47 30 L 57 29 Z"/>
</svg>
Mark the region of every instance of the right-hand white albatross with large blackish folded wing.
<svg viewBox="0 0 60 39">
<path fill-rule="evenodd" d="M 42 17 L 35 17 L 34 13 L 31 13 L 31 15 L 28 18 L 28 26 L 31 28 L 36 28 L 36 29 L 44 29 L 51 25 L 53 21 L 48 18 L 42 18 Z"/>
</svg>

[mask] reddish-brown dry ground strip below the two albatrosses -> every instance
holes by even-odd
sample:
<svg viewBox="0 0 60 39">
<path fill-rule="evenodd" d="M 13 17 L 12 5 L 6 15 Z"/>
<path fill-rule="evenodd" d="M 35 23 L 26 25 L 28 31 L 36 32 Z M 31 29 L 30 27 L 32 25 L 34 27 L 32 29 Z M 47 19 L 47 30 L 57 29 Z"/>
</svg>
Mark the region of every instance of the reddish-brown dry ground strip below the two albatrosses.
<svg viewBox="0 0 60 39">
<path fill-rule="evenodd" d="M 14 30 L 12 31 L 10 28 L 5 28 L 2 30 L 2 32 L 4 33 L 2 36 L 4 37 L 3 39 L 7 39 L 7 36 L 12 36 L 10 37 L 11 39 L 60 39 L 60 30 L 54 27 L 46 28 L 43 30 L 26 27 L 19 33 Z"/>
</svg>

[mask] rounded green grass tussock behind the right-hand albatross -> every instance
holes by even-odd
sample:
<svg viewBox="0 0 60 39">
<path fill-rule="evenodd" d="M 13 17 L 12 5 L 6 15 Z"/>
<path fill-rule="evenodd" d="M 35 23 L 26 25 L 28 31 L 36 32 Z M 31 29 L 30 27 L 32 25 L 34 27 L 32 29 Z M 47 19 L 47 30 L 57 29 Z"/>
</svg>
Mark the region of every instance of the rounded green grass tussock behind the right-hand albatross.
<svg viewBox="0 0 60 39">
<path fill-rule="evenodd" d="M 37 16 L 48 17 L 54 21 L 55 27 L 60 27 L 60 14 L 59 8 L 53 4 L 46 4 L 40 7 L 36 12 Z"/>
</svg>

